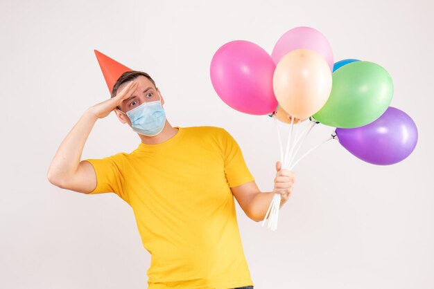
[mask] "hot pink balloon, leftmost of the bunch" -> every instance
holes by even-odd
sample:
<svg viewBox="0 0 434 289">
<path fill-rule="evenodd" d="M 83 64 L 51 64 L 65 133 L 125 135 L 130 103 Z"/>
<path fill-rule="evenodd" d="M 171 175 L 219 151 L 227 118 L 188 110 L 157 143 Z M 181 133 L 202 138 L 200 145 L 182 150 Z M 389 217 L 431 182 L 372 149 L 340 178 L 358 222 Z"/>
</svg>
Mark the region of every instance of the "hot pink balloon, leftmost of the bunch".
<svg viewBox="0 0 434 289">
<path fill-rule="evenodd" d="M 275 111 L 272 88 L 276 65 L 257 44 L 236 40 L 218 48 L 211 60 L 211 82 L 218 96 L 237 111 L 265 115 Z"/>
</svg>

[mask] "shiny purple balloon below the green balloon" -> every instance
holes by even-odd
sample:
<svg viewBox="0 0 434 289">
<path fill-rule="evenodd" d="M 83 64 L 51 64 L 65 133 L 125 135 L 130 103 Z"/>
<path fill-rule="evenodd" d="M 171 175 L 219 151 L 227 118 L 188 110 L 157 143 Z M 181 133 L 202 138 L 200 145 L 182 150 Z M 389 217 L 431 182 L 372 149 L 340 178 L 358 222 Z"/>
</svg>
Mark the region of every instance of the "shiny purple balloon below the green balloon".
<svg viewBox="0 0 434 289">
<path fill-rule="evenodd" d="M 410 156 L 417 127 L 407 113 L 392 106 L 377 120 L 354 129 L 336 129 L 342 147 L 374 165 L 392 165 Z"/>
</svg>

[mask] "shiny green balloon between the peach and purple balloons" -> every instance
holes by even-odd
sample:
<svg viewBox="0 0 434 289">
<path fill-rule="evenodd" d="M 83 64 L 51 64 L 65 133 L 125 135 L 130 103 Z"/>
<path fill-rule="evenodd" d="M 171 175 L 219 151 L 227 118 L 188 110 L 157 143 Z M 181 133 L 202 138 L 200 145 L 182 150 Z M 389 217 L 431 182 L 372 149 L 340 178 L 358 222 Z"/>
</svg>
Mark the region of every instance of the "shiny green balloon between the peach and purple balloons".
<svg viewBox="0 0 434 289">
<path fill-rule="evenodd" d="M 388 109 L 393 97 L 392 77 L 373 62 L 351 62 L 333 75 L 333 86 L 326 104 L 313 115 L 330 127 L 363 127 Z"/>
</svg>

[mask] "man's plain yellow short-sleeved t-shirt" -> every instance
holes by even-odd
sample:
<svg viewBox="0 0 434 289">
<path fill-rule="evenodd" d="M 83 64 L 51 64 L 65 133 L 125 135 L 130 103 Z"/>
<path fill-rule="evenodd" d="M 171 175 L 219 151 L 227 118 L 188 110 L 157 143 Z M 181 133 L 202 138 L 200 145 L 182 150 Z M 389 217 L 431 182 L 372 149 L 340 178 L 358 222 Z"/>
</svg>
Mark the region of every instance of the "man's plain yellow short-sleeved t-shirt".
<svg viewBox="0 0 434 289">
<path fill-rule="evenodd" d="M 157 145 L 87 159 L 90 194 L 114 192 L 134 211 L 151 254 L 149 289 L 253 286 L 230 187 L 254 178 L 232 136 L 220 127 L 175 127 Z"/>
</svg>

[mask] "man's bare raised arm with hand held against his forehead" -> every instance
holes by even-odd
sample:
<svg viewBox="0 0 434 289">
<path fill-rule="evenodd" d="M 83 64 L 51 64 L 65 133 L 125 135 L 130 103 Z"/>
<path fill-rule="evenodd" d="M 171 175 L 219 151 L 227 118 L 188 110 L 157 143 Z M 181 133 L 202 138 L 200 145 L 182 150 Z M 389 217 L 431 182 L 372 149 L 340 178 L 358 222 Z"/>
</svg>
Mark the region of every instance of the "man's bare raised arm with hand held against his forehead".
<svg viewBox="0 0 434 289">
<path fill-rule="evenodd" d="M 50 183 L 62 189 L 87 194 L 96 187 L 96 174 L 89 162 L 80 161 L 85 142 L 98 118 L 105 118 L 123 100 L 130 97 L 137 87 L 131 82 L 116 97 L 98 103 L 83 113 L 76 125 L 64 138 L 55 153 L 47 178 Z"/>
</svg>

